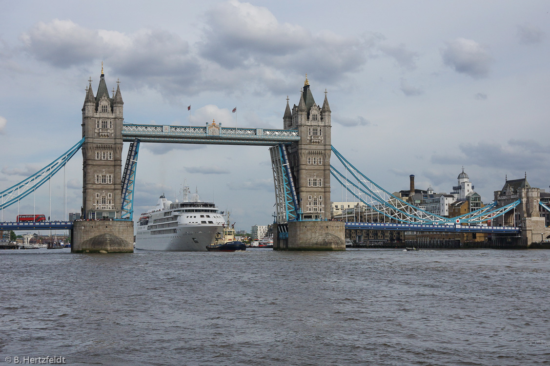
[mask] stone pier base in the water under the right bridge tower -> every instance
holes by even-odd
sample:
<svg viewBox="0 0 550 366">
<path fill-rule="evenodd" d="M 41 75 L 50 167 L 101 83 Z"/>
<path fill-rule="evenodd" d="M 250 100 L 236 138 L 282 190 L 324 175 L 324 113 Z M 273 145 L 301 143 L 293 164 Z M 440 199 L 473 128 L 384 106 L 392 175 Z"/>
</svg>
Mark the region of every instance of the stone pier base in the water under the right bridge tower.
<svg viewBox="0 0 550 366">
<path fill-rule="evenodd" d="M 293 221 L 288 223 L 288 239 L 277 240 L 275 250 L 343 251 L 345 250 L 343 221 Z"/>
</svg>

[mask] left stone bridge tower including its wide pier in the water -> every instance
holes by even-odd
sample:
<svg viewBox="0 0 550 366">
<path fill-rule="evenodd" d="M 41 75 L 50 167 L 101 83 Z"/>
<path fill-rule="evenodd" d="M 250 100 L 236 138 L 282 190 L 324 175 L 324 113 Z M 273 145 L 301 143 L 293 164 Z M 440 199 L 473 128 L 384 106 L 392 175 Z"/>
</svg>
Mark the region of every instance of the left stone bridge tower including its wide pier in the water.
<svg viewBox="0 0 550 366">
<path fill-rule="evenodd" d="M 97 95 L 92 80 L 82 108 L 83 203 L 81 218 L 74 226 L 73 252 L 133 252 L 134 226 L 117 221 L 122 213 L 122 125 L 120 86 L 112 97 L 101 67 Z M 101 221 L 101 225 L 98 221 Z M 76 243 L 74 243 L 76 241 Z"/>
</svg>

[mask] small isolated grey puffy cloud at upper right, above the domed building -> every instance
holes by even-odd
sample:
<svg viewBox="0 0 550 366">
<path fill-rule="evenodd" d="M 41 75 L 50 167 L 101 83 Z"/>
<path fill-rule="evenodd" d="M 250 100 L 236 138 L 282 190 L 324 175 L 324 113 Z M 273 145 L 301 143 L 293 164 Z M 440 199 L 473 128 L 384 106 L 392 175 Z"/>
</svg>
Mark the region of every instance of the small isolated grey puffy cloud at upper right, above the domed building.
<svg viewBox="0 0 550 366">
<path fill-rule="evenodd" d="M 445 65 L 453 68 L 457 73 L 466 74 L 475 79 L 488 75 L 492 58 L 487 52 L 487 47 L 465 38 L 456 38 L 446 43 L 447 46 L 441 50 Z"/>
</svg>

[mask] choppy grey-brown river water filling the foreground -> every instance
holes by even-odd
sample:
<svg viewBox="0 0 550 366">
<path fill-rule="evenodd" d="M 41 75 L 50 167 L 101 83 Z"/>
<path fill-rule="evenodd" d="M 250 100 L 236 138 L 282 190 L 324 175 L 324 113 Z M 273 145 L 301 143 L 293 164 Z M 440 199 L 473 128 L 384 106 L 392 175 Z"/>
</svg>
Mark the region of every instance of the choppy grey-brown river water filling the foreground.
<svg viewBox="0 0 550 366">
<path fill-rule="evenodd" d="M 550 251 L 34 249 L 0 266 L 0 364 L 550 364 Z"/>
</svg>

